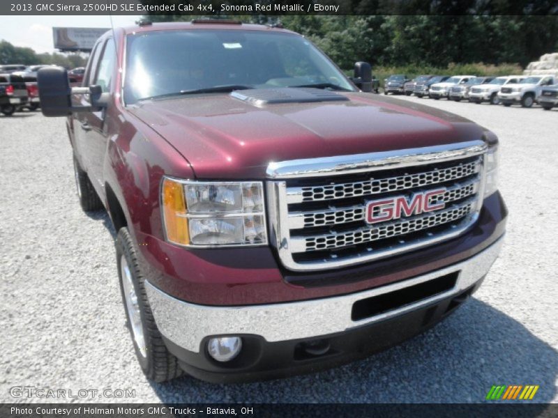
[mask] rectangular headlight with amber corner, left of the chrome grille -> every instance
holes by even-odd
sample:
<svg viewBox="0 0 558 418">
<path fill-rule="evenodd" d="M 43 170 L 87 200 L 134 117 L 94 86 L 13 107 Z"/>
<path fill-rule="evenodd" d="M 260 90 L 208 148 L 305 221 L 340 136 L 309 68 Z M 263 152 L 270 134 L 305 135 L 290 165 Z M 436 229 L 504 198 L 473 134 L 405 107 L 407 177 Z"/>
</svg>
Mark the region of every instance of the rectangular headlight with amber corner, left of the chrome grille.
<svg viewBox="0 0 558 418">
<path fill-rule="evenodd" d="M 167 240 L 189 247 L 266 245 L 261 182 L 205 182 L 164 178 Z"/>
</svg>

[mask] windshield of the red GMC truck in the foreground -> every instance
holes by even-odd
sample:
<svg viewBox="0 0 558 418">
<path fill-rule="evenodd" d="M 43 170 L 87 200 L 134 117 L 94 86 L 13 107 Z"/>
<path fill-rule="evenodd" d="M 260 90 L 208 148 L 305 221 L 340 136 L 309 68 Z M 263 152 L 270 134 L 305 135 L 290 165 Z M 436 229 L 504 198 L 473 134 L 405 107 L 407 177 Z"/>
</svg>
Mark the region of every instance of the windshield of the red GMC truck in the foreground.
<svg viewBox="0 0 558 418">
<path fill-rule="evenodd" d="M 213 29 L 142 33 L 128 36 L 126 56 L 127 104 L 241 88 L 317 86 L 354 91 L 322 52 L 289 33 Z"/>
</svg>

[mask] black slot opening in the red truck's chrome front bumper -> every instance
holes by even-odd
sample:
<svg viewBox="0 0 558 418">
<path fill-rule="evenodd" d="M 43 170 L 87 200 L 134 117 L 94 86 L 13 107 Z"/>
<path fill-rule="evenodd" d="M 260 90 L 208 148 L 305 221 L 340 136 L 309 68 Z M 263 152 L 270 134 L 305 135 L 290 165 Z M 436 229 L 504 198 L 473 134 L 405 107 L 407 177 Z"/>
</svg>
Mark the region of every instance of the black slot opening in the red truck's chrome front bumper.
<svg viewBox="0 0 558 418">
<path fill-rule="evenodd" d="M 357 300 L 353 304 L 351 319 L 363 320 L 451 291 L 457 283 L 458 276 L 459 272 L 453 272 L 398 291 Z"/>
</svg>

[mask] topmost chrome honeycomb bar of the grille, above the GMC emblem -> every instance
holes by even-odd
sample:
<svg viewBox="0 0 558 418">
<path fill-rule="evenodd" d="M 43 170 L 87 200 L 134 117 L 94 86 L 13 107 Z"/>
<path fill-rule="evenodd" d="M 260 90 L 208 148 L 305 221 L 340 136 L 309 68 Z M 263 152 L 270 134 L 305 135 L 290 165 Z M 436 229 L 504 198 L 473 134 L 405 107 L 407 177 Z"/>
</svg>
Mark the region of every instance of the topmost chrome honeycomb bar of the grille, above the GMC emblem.
<svg viewBox="0 0 558 418">
<path fill-rule="evenodd" d="M 326 201 L 331 199 L 366 196 L 368 194 L 396 192 L 398 190 L 410 189 L 412 187 L 421 187 L 442 183 L 444 181 L 458 180 L 459 178 L 478 173 L 480 170 L 481 162 L 472 161 L 453 167 L 447 167 L 446 169 L 430 170 L 422 173 L 407 174 L 405 176 L 378 178 L 356 183 L 289 187 L 287 189 L 287 203 Z"/>
</svg>

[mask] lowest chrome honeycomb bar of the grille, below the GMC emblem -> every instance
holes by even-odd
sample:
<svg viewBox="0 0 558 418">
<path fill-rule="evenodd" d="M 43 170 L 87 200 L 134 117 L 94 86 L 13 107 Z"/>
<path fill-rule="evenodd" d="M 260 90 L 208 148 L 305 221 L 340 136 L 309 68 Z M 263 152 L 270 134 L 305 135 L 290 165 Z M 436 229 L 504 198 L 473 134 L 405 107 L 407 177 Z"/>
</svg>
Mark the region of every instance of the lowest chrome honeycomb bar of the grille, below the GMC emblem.
<svg viewBox="0 0 558 418">
<path fill-rule="evenodd" d="M 301 253 L 347 247 L 384 238 L 396 237 L 405 233 L 421 231 L 432 226 L 446 224 L 469 215 L 474 210 L 474 200 L 446 210 L 439 210 L 432 215 L 415 216 L 403 221 L 384 222 L 375 227 L 360 228 L 346 233 L 324 234 L 312 237 L 291 238 L 291 252 Z M 402 243 L 402 242 L 400 242 Z M 370 245 L 372 249 L 372 245 Z"/>
</svg>

